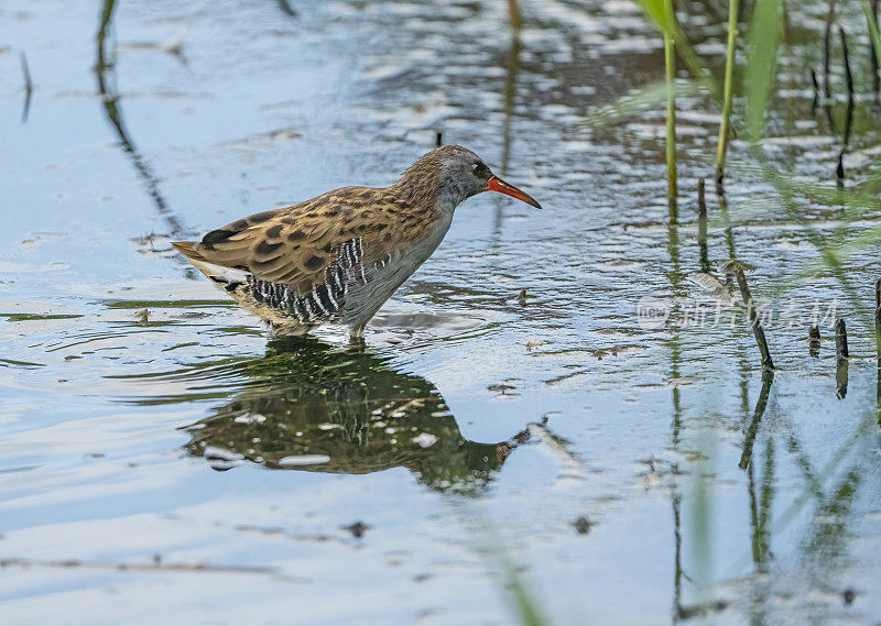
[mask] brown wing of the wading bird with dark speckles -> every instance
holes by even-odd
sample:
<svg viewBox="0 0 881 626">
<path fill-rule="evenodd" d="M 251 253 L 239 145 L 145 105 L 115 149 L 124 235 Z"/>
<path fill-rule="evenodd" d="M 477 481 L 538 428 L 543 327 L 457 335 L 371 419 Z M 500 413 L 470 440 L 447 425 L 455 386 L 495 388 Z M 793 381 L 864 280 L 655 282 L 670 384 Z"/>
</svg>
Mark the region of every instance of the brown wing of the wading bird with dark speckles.
<svg viewBox="0 0 881 626">
<path fill-rule="evenodd" d="M 403 243 L 393 237 L 401 212 L 407 211 L 384 189 L 346 187 L 235 221 L 207 233 L 194 251 L 208 263 L 307 294 L 339 261 L 352 268 L 388 257 Z"/>
</svg>

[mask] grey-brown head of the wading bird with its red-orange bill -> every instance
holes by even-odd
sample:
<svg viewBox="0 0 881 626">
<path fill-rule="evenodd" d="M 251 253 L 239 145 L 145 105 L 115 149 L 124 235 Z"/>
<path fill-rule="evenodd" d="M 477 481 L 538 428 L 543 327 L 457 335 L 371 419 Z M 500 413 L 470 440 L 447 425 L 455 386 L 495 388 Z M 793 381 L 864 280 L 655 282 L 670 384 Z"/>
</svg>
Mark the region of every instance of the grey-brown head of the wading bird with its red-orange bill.
<svg viewBox="0 0 881 626">
<path fill-rule="evenodd" d="M 401 183 L 406 180 L 414 185 L 431 182 L 437 201 L 450 209 L 483 191 L 498 191 L 542 208 L 532 196 L 496 176 L 482 158 L 460 145 L 444 145 L 424 154 L 404 172 Z"/>
</svg>

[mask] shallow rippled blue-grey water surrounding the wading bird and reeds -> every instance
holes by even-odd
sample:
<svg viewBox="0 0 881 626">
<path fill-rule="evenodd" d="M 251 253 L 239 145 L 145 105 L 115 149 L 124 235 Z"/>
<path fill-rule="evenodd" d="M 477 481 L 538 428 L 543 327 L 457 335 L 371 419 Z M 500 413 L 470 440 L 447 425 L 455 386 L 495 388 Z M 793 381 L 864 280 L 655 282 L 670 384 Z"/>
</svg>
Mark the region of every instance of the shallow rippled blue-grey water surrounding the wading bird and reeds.
<svg viewBox="0 0 881 626">
<path fill-rule="evenodd" d="M 94 4 L 0 9 L 4 623 L 514 624 L 513 571 L 547 624 L 877 624 L 877 246 L 847 263 L 856 299 L 826 271 L 779 296 L 764 384 L 719 263 L 754 266 L 761 298 L 819 261 L 812 228 L 878 211 L 793 216 L 735 142 L 736 227 L 710 196 L 701 254 L 717 119 L 695 97 L 667 226 L 662 107 L 578 127 L 663 77 L 630 2 L 524 2 L 519 41 L 501 1 L 293 4 L 120 3 L 102 47 Z M 694 4 L 718 70 L 721 22 Z M 765 150 L 833 189 L 840 138 L 804 76 L 824 8 L 793 9 Z M 877 160 L 871 107 L 848 184 Z M 365 350 L 268 342 L 168 245 L 388 184 L 438 130 L 545 209 L 469 200 Z M 646 296 L 668 323 L 640 325 Z M 815 303 L 848 322 L 846 374 L 828 319 L 808 354 Z"/>
</svg>

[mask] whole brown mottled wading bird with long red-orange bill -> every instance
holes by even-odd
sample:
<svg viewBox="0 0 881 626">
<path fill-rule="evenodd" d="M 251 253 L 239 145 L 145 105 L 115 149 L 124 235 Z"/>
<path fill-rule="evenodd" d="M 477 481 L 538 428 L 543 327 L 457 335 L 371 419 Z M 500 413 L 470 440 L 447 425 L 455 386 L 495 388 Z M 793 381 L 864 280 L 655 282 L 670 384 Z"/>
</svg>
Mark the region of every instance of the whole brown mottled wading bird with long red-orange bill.
<svg viewBox="0 0 881 626">
<path fill-rule="evenodd" d="M 423 155 L 390 187 L 344 187 L 174 246 L 279 333 L 336 322 L 360 337 L 440 243 L 455 208 L 487 190 L 541 208 L 476 154 L 447 145 Z"/>
</svg>

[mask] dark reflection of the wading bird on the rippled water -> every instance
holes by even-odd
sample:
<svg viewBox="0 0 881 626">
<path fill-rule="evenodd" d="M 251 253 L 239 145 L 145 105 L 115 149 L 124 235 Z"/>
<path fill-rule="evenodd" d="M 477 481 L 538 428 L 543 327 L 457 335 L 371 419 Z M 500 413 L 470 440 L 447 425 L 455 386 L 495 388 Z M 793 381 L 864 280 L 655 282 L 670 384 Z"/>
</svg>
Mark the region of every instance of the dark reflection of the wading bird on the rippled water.
<svg viewBox="0 0 881 626">
<path fill-rule="evenodd" d="M 465 439 L 432 383 L 369 350 L 286 338 L 246 371 L 252 384 L 187 427 L 188 451 L 216 470 L 244 461 L 338 474 L 406 468 L 433 488 L 474 492 L 530 439 L 530 427 L 498 443 Z"/>
</svg>

